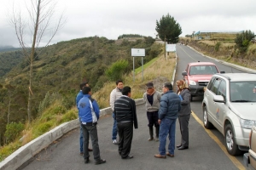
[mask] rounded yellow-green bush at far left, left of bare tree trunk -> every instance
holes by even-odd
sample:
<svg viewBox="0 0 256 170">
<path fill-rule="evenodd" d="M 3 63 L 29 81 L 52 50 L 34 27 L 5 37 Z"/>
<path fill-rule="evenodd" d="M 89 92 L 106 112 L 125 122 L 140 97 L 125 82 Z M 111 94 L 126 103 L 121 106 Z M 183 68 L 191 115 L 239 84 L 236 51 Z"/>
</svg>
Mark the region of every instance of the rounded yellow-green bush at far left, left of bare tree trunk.
<svg viewBox="0 0 256 170">
<path fill-rule="evenodd" d="M 6 137 L 8 143 L 14 141 L 20 135 L 22 130 L 24 130 L 24 124 L 21 122 L 11 122 L 10 124 L 6 125 L 4 136 Z"/>
</svg>

